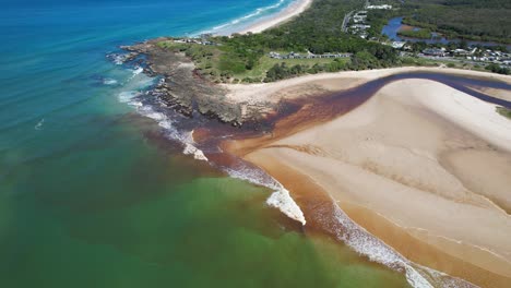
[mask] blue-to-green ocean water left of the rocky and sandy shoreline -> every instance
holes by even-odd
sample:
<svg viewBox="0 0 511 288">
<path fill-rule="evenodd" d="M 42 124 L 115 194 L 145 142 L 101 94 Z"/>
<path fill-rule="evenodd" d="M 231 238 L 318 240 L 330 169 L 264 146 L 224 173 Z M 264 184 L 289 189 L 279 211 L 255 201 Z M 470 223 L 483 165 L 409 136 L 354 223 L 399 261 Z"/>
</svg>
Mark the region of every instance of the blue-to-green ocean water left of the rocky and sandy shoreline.
<svg viewBox="0 0 511 288">
<path fill-rule="evenodd" d="M 106 57 L 288 3 L 2 1 L 0 287 L 406 286 L 167 143 L 127 104 L 152 80 Z"/>
</svg>

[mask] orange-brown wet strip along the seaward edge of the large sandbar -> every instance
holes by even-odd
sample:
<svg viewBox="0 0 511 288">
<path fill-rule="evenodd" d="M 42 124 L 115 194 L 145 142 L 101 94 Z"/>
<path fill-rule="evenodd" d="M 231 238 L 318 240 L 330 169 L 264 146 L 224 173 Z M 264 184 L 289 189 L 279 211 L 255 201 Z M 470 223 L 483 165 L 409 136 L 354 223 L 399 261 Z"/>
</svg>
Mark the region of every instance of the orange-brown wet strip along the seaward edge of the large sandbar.
<svg viewBox="0 0 511 288">
<path fill-rule="evenodd" d="M 298 172 L 296 169 L 286 164 L 278 163 L 278 160 L 272 157 L 254 155 L 249 156 L 247 159 L 261 164 L 261 168 L 274 176 L 276 180 L 293 192 L 294 200 L 307 217 L 307 225 L 305 227 L 307 235 L 328 235 L 333 238 L 336 238 L 337 235 L 353 237 L 335 218 L 332 197 L 307 175 Z M 337 202 L 336 204 L 354 223 L 364 227 L 370 235 L 378 236 L 382 243 L 392 247 L 402 256 L 414 263 L 429 264 L 429 267 L 461 279 L 471 280 L 482 287 L 507 287 L 509 283 L 508 277 L 502 277 L 463 259 L 452 256 L 441 249 L 421 241 L 420 238 L 409 235 L 402 227 L 367 207 L 349 202 Z M 336 239 L 337 241 L 340 240 L 338 238 Z M 470 250 L 468 247 L 466 249 Z M 393 251 L 389 250 L 389 252 L 392 253 Z M 393 268 L 397 268 L 402 273 L 405 272 L 403 266 Z M 431 280 L 433 287 L 444 287 L 443 285 L 449 281 L 456 283 L 457 286 L 454 287 L 471 287 L 470 284 L 456 278 L 445 275 L 436 276 L 438 278 Z"/>
</svg>

